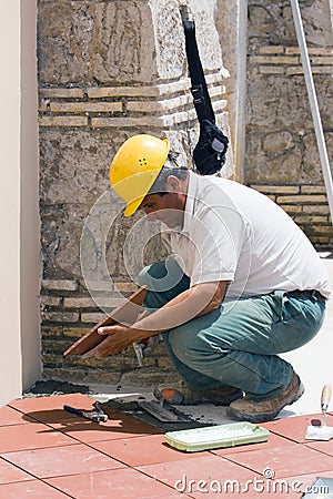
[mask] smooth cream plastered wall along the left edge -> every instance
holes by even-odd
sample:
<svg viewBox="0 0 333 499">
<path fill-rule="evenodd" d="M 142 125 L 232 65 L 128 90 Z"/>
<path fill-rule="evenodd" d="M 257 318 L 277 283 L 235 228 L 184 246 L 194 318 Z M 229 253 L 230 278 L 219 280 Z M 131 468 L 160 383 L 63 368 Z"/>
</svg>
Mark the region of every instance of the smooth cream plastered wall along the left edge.
<svg viewBox="0 0 333 499">
<path fill-rule="evenodd" d="M 0 407 L 40 376 L 36 0 L 0 18 Z"/>
</svg>

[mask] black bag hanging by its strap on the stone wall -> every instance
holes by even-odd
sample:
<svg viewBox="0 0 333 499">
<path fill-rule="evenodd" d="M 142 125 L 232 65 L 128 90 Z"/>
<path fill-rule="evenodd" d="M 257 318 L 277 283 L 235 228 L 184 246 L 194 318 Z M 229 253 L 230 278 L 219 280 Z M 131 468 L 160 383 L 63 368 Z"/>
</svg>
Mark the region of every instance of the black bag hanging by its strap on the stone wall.
<svg viewBox="0 0 333 499">
<path fill-rule="evenodd" d="M 185 33 L 185 51 L 191 78 L 193 104 L 200 123 L 200 135 L 193 151 L 198 173 L 211 175 L 225 163 L 229 139 L 215 124 L 215 115 L 199 55 L 194 21 L 189 19 L 186 6 L 180 8 Z"/>
</svg>

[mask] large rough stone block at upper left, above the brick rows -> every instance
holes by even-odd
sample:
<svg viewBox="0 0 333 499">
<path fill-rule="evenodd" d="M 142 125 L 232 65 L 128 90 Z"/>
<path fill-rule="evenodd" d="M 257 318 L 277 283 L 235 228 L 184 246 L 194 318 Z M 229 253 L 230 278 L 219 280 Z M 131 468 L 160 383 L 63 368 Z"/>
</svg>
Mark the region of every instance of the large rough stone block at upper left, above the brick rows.
<svg viewBox="0 0 333 499">
<path fill-rule="evenodd" d="M 39 73 L 43 83 L 151 81 L 152 27 L 147 2 L 39 2 Z"/>
</svg>

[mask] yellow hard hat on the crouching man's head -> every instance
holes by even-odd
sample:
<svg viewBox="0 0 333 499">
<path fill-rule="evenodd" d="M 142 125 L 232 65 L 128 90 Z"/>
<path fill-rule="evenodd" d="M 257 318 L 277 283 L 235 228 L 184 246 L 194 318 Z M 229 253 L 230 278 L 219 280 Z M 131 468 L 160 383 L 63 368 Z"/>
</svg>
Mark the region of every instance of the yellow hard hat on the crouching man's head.
<svg viewBox="0 0 333 499">
<path fill-rule="evenodd" d="M 114 192 L 127 202 L 125 216 L 133 215 L 157 180 L 170 151 L 169 141 L 149 134 L 134 135 L 119 149 L 110 166 Z"/>
</svg>

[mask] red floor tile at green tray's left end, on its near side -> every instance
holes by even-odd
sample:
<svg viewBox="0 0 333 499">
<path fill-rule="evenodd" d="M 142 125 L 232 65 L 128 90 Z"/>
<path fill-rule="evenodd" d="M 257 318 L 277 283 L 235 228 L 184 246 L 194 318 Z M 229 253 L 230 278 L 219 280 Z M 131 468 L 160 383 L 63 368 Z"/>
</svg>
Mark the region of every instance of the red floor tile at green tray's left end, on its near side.
<svg viewBox="0 0 333 499">
<path fill-rule="evenodd" d="M 182 452 L 165 444 L 164 435 L 123 438 L 91 444 L 95 449 L 112 456 L 129 466 L 155 465 L 158 462 L 180 461 L 195 457 L 193 452 Z M 201 452 L 209 456 L 209 452 Z"/>
</svg>

